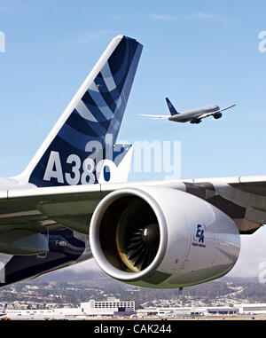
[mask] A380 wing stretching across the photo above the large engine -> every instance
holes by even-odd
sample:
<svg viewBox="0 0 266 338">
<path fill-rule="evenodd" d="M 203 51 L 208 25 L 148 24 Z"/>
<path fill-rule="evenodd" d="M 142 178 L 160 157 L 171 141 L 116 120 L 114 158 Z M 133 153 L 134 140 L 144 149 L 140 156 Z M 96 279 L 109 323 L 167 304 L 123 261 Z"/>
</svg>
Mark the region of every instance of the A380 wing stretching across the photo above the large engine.
<svg viewBox="0 0 266 338">
<path fill-rule="evenodd" d="M 175 181 L 43 187 L 1 192 L 0 229 L 41 232 L 66 226 L 89 233 L 98 202 L 115 190 L 137 186 L 168 187 L 214 204 L 239 223 L 243 233 L 266 224 L 266 176 L 194 178 Z"/>
</svg>

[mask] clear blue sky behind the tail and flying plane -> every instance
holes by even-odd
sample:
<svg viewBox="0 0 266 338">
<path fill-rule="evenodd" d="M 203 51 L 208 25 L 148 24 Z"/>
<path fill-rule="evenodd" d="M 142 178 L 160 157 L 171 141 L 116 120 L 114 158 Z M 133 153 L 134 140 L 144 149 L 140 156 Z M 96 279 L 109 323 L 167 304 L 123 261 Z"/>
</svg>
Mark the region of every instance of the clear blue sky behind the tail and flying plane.
<svg viewBox="0 0 266 338">
<path fill-rule="evenodd" d="M 119 34 L 144 44 L 120 139 L 180 141 L 183 178 L 266 174 L 265 15 L 259 0 L 0 0 L 0 176 L 25 169 Z M 177 110 L 237 106 L 200 125 L 138 116 L 168 114 L 166 96 Z"/>
</svg>

